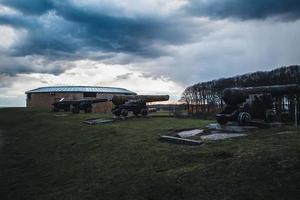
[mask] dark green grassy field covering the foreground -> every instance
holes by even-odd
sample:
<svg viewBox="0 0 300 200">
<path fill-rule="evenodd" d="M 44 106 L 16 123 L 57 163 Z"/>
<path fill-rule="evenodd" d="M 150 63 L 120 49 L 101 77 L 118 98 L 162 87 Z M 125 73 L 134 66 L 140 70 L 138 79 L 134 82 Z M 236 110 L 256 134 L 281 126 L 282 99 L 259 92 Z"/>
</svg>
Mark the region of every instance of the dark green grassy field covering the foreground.
<svg viewBox="0 0 300 200">
<path fill-rule="evenodd" d="M 0 109 L 0 199 L 300 197 L 300 131 L 277 134 L 291 127 L 190 147 L 158 138 L 209 121 L 92 117 L 110 116 Z"/>
</svg>

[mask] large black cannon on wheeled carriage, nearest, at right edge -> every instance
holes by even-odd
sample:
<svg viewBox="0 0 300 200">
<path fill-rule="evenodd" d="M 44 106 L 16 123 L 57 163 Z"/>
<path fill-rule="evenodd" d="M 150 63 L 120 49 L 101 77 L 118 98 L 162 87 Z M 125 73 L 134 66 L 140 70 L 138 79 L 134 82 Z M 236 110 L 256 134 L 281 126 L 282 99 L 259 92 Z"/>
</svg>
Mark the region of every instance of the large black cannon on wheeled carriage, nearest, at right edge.
<svg viewBox="0 0 300 200">
<path fill-rule="evenodd" d="M 300 94 L 300 86 L 297 84 L 227 88 L 222 94 L 226 106 L 216 115 L 216 120 L 222 125 L 229 121 L 246 125 L 251 119 L 274 122 L 277 113 L 273 97 L 296 94 Z"/>
</svg>

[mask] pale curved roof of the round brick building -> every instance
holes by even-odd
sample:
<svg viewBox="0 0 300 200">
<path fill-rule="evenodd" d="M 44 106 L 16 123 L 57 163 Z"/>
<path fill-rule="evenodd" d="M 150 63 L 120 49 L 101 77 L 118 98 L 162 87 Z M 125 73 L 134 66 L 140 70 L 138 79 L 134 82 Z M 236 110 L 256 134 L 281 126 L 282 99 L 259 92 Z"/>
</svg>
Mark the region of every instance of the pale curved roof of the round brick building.
<svg viewBox="0 0 300 200">
<path fill-rule="evenodd" d="M 124 88 L 115 87 L 96 87 L 96 86 L 51 86 L 40 87 L 25 92 L 25 94 L 31 93 L 76 93 L 76 92 L 97 92 L 97 93 L 114 93 L 114 94 L 132 94 L 136 93 L 126 90 Z"/>
</svg>

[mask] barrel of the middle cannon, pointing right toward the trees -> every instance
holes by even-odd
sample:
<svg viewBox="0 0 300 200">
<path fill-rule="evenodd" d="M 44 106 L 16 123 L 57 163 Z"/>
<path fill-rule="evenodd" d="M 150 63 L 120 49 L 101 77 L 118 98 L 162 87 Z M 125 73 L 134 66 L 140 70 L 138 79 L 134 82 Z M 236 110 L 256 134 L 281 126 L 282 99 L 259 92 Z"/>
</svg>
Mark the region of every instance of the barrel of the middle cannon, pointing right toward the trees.
<svg viewBox="0 0 300 200">
<path fill-rule="evenodd" d="M 169 95 L 114 95 L 112 102 L 115 105 L 122 105 L 129 100 L 140 100 L 143 102 L 168 101 Z"/>
</svg>

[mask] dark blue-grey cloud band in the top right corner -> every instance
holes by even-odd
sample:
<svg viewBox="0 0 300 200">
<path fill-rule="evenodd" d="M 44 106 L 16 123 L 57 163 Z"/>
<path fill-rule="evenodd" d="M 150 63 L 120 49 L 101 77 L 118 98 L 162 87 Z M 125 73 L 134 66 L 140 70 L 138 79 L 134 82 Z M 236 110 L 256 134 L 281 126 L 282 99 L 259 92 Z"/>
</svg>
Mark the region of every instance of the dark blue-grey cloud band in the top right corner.
<svg viewBox="0 0 300 200">
<path fill-rule="evenodd" d="M 186 11 L 212 18 L 264 19 L 282 15 L 285 19 L 300 17 L 299 0 L 190 0 Z"/>
</svg>

